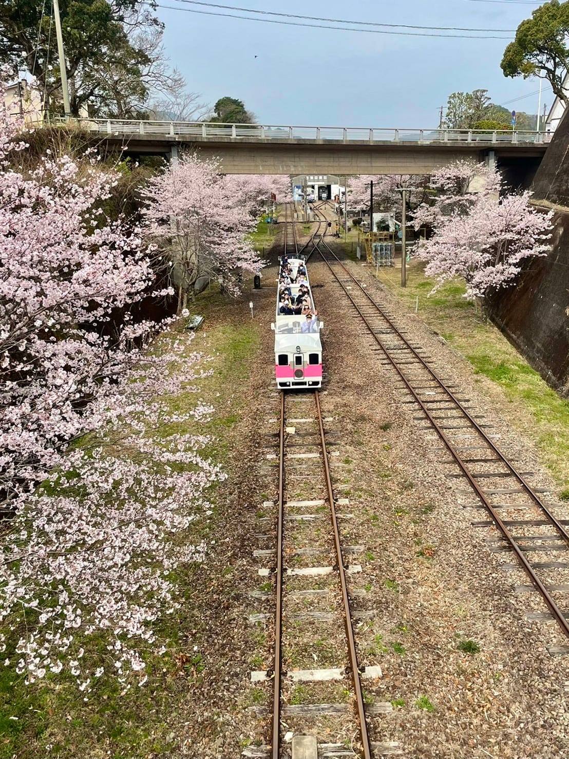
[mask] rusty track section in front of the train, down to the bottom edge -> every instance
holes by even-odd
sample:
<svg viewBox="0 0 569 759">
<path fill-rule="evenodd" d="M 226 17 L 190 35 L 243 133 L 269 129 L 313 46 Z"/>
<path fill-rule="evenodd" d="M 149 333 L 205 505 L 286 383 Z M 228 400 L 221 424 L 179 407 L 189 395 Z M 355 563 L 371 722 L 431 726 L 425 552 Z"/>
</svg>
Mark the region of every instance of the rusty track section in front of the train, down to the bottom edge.
<svg viewBox="0 0 569 759">
<path fill-rule="evenodd" d="M 313 735 L 316 742 L 318 729 L 307 724 L 309 710 L 294 708 L 291 704 L 291 684 L 315 683 L 322 685 L 332 681 L 343 682 L 350 691 L 351 709 L 341 716 L 340 732 L 350 737 L 354 755 L 370 759 L 372 757 L 366 713 L 363 703 L 360 667 L 354 640 L 354 620 L 352 619 L 348 576 L 360 570 L 359 565 L 350 563 L 352 553 L 344 553 L 338 521 L 345 516 L 345 499 L 340 502 L 338 513 L 330 475 L 331 453 L 326 444 L 325 421 L 320 407 L 320 395 L 314 392 L 281 392 L 279 398 L 279 454 L 278 454 L 278 520 L 275 568 L 275 665 L 272 687 L 272 759 L 281 759 L 288 754 L 282 745 L 283 714 L 288 729 Z M 300 439 L 301 442 L 298 442 Z M 299 477 L 310 487 L 307 493 L 299 487 Z M 303 493 L 304 497 L 299 497 Z M 304 514 L 303 511 L 310 513 Z M 313 511 L 316 509 L 316 513 Z M 330 530 L 326 537 L 319 537 L 314 545 L 313 524 L 329 518 Z M 307 545 L 307 543 L 309 543 Z M 354 546 L 351 546 L 354 550 Z M 318 566 L 295 568 L 294 559 L 299 556 L 315 556 Z M 303 587 L 295 591 L 295 581 L 303 585 L 314 578 L 319 587 Z M 322 583 L 322 578 L 326 578 Z M 324 584 L 324 587 L 321 587 Z M 310 605 L 298 608 L 299 600 Z M 327 608 L 321 609 L 322 600 Z M 338 603 L 339 602 L 339 603 Z M 332 607 L 332 611 L 328 607 Z M 335 609 L 334 609 L 335 607 Z M 297 661 L 294 649 L 299 647 L 297 628 L 302 622 L 310 635 L 315 635 L 313 625 L 318 623 L 318 636 L 327 638 L 339 660 L 329 661 L 329 666 L 314 669 L 297 669 L 291 666 Z M 325 625 L 325 628 L 324 628 Z M 343 628 L 343 635 L 338 631 Z M 301 647 L 301 646 L 300 646 Z M 343 651 L 343 654 L 340 652 Z M 300 660 L 302 663 L 302 659 Z M 310 665 L 310 660 L 305 659 Z M 374 668 L 366 668 L 366 676 L 374 676 Z M 294 686 L 293 686 L 294 687 Z M 325 698 L 324 698 L 325 701 Z M 326 704 L 322 712 L 326 713 Z M 330 706 L 328 704 L 328 706 Z M 335 704 L 336 708 L 338 705 Z M 314 711 L 314 710 L 313 710 Z M 315 744 L 316 745 L 316 744 Z M 341 750 L 338 746 L 338 751 Z M 328 747 L 329 756 L 335 754 L 334 746 Z M 316 754 L 314 754 L 316 756 Z M 294 753 L 293 753 L 294 757 Z"/>
</svg>

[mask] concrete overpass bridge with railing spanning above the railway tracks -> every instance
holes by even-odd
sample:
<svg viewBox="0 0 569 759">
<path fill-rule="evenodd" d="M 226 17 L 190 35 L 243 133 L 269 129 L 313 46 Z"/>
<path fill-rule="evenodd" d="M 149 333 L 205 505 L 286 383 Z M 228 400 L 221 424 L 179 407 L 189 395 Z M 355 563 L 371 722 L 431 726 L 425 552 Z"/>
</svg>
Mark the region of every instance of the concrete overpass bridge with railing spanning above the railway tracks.
<svg viewBox="0 0 569 759">
<path fill-rule="evenodd" d="M 132 155 L 199 150 L 228 174 L 430 174 L 456 159 L 498 162 L 533 178 L 549 143 L 539 131 L 379 129 L 77 119 Z M 526 184 L 526 183 L 524 183 Z"/>
</svg>

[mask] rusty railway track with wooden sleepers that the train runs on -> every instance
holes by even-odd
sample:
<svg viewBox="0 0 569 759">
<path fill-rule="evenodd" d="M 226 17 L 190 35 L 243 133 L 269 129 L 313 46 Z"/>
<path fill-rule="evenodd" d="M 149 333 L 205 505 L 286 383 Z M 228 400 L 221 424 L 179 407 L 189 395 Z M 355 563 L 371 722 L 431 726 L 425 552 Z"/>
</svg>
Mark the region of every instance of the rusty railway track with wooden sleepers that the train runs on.
<svg viewBox="0 0 569 759">
<path fill-rule="evenodd" d="M 291 254 L 294 244 L 296 254 L 314 242 L 314 234 L 299 249 L 288 210 L 284 250 Z M 381 669 L 360 671 L 358 663 L 349 578 L 361 571 L 354 560 L 363 546 L 344 546 L 341 540 L 338 524 L 351 515 L 347 499 L 337 499 L 332 486 L 330 461 L 338 451 L 329 449 L 335 443 L 327 441 L 325 429 L 332 420 L 322 416 L 317 390 L 280 392 L 278 398 L 275 562 L 271 569 L 259 570 L 259 575 L 275 578 L 274 663 L 269 672 L 251 675 L 253 682 L 272 680 L 271 740 L 266 750 L 247 755 L 372 759 L 374 754 L 398 754 L 397 744 L 369 739 L 361 681 L 380 676 Z M 272 550 L 258 554 L 273 555 Z M 297 702 L 299 686 L 313 689 L 310 704 Z M 341 703 L 334 698 L 338 686 L 344 694 Z M 376 706 L 376 711 L 382 706 L 389 710 L 390 704 Z M 332 735 L 343 741 L 331 742 Z"/>
</svg>

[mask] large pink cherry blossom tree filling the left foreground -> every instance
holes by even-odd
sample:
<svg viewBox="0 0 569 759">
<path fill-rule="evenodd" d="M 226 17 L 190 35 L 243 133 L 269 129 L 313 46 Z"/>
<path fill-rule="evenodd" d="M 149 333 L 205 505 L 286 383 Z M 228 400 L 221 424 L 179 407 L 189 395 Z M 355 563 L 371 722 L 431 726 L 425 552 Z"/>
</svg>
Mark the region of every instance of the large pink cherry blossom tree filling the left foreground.
<svg viewBox="0 0 569 759">
<path fill-rule="evenodd" d="M 203 436 L 149 434 L 211 412 L 199 402 L 168 410 L 169 396 L 203 376 L 201 357 L 174 337 L 146 351 L 168 322 L 130 317 L 165 291 L 155 291 L 141 230 L 102 211 L 115 173 L 89 155 L 18 169 L 21 125 L 3 103 L 0 493 L 11 521 L 0 540 L 0 650 L 27 682 L 61 672 L 88 693 L 111 673 L 128 687 L 132 672 L 144 682 L 153 622 L 176 606 L 171 571 L 203 558 L 205 546 L 180 534 L 222 476 L 200 455 Z M 90 636 L 103 644 L 97 661 L 85 653 Z"/>
</svg>

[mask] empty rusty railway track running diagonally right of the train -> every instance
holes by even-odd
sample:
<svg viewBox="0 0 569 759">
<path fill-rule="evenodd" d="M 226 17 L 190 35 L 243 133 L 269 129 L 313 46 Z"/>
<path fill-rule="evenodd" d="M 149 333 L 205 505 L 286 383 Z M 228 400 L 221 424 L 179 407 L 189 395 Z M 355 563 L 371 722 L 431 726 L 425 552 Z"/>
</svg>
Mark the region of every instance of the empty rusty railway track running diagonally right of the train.
<svg viewBox="0 0 569 759">
<path fill-rule="evenodd" d="M 530 580 L 530 585 L 518 587 L 519 592 L 537 591 L 549 609 L 527 616 L 555 619 L 569 638 L 569 610 L 561 606 L 569 585 L 554 584 L 547 578 L 552 570 L 569 568 L 569 562 L 551 558 L 552 553 L 566 551 L 569 546 L 569 520 L 555 515 L 557 509 L 566 507 L 545 501 L 548 491 L 528 481 L 533 473 L 517 469 L 492 439 L 492 425 L 473 413 L 469 399 L 457 386 L 435 373 L 425 351 L 407 339 L 406 331 L 397 325 L 388 309 L 374 300 L 326 241 L 319 238 L 314 246 L 384 354 L 382 363 L 391 367 L 401 381 L 398 389 L 404 393 L 403 402 L 415 412 L 415 420 L 426 422 L 426 429 L 434 430 L 444 444 L 443 450 L 450 458 L 442 463 L 452 468 L 446 477 L 466 480 L 470 490 L 459 493 L 473 493 L 477 499 L 473 508 L 486 510 L 490 517 L 473 524 L 498 529 L 500 537 L 487 541 L 490 550 L 514 553 Z M 539 560 L 528 558 L 528 554 L 537 554 Z M 549 646 L 548 650 L 552 654 L 569 653 L 569 646 Z"/>
</svg>

